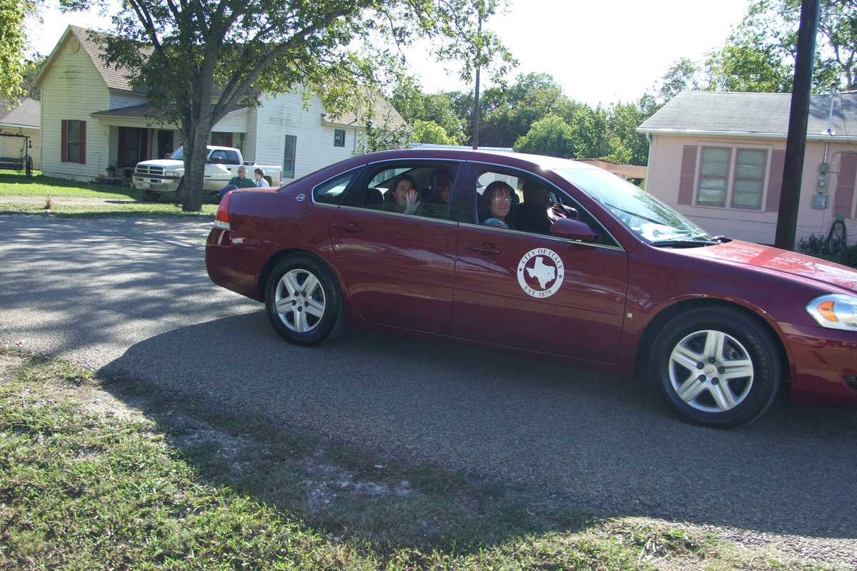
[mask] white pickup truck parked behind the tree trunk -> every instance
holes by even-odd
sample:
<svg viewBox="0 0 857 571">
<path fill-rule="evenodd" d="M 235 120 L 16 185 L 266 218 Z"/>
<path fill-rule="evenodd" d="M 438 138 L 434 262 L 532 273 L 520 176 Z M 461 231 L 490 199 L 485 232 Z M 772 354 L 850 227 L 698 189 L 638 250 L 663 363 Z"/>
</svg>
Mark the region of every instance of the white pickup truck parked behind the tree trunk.
<svg viewBox="0 0 857 571">
<path fill-rule="evenodd" d="M 283 167 L 244 162 L 241 151 L 231 146 L 208 146 L 205 181 L 202 190 L 215 192 L 225 187 L 238 167 L 247 169 L 253 179 L 253 171 L 261 167 L 271 177 L 271 186 L 279 187 L 283 182 Z M 184 147 L 178 147 L 170 158 L 153 159 L 138 163 L 134 169 L 134 187 L 144 200 L 157 200 L 161 194 L 176 196 L 184 175 Z"/>
</svg>

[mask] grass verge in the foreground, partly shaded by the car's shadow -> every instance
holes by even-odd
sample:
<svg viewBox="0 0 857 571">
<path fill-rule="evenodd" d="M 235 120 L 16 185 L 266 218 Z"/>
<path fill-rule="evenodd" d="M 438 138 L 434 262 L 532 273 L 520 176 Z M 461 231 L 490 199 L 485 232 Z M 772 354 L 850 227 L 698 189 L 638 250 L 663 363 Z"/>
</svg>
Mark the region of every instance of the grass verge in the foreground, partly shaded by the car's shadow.
<svg viewBox="0 0 857 571">
<path fill-rule="evenodd" d="M 0 569 L 822 568 L 0 348 Z"/>
</svg>

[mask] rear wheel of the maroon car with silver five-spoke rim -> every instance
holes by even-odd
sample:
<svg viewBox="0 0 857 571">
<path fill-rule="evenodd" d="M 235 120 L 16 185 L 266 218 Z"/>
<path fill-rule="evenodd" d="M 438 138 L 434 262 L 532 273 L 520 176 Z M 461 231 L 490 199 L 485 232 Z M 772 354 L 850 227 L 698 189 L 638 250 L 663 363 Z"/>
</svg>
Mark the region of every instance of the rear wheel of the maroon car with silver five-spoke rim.
<svg viewBox="0 0 857 571">
<path fill-rule="evenodd" d="M 266 286 L 265 311 L 279 336 L 296 345 L 320 345 L 345 330 L 339 280 L 309 254 L 292 254 L 274 267 Z"/>
</svg>

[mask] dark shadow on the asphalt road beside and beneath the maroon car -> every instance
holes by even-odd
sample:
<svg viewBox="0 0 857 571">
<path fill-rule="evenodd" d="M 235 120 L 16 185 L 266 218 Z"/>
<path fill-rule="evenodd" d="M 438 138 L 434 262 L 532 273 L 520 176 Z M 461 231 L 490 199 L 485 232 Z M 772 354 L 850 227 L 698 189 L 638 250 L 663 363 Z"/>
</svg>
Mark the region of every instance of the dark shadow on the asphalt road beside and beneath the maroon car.
<svg viewBox="0 0 857 571">
<path fill-rule="evenodd" d="M 781 397 L 715 431 L 637 380 L 365 331 L 297 348 L 261 309 L 153 336 L 102 372 L 569 509 L 857 538 L 854 411 Z"/>
</svg>

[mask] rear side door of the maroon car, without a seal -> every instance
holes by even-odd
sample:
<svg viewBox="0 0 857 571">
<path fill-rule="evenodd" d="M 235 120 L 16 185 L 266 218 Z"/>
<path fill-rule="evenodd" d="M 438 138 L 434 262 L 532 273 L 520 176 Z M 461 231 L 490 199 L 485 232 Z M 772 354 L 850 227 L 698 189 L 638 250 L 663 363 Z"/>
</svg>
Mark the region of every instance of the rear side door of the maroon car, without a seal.
<svg viewBox="0 0 857 571">
<path fill-rule="evenodd" d="M 337 266 L 352 306 L 368 321 L 449 332 L 457 223 L 447 219 L 448 206 L 405 214 L 384 210 L 390 203 L 382 202 L 396 174 L 412 173 L 423 187 L 441 166 L 453 175 L 458 168 L 437 161 L 374 165 L 354 205 L 345 199 L 331 217 Z"/>
</svg>

